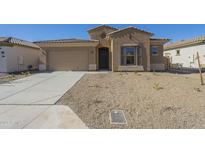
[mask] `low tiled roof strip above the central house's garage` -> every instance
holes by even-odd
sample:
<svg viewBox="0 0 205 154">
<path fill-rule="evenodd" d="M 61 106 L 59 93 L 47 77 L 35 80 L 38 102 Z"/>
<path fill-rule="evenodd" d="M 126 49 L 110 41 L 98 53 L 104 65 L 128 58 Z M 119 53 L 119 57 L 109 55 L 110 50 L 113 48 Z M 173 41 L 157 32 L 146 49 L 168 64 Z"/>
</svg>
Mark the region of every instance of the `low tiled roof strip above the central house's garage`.
<svg viewBox="0 0 205 154">
<path fill-rule="evenodd" d="M 44 41 L 36 41 L 34 43 L 92 43 L 99 42 L 98 40 L 84 40 L 84 39 L 59 39 L 59 40 L 44 40 Z"/>
</svg>

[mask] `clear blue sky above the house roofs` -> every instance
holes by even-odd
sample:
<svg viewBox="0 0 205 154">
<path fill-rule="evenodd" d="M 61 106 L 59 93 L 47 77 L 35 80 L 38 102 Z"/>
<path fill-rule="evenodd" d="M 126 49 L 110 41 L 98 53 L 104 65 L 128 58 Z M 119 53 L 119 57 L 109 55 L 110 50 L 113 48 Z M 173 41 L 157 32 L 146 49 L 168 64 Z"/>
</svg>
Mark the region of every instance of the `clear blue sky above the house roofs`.
<svg viewBox="0 0 205 154">
<path fill-rule="evenodd" d="M 98 24 L 0 24 L 0 37 L 13 36 L 29 41 L 82 38 L 88 39 L 87 30 L 99 26 Z M 112 24 L 116 28 L 135 26 L 155 34 L 154 37 L 170 38 L 172 41 L 188 39 L 196 36 L 205 35 L 205 25 L 163 25 L 163 24 Z"/>
</svg>

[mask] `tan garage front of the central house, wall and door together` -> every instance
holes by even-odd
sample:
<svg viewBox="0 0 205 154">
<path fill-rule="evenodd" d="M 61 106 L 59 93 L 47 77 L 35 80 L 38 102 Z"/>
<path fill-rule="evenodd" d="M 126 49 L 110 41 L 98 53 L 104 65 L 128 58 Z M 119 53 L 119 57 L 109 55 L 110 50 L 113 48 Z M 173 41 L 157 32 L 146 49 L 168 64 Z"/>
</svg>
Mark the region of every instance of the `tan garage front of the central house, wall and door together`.
<svg viewBox="0 0 205 154">
<path fill-rule="evenodd" d="M 49 70 L 95 70 L 95 47 L 44 47 Z"/>
</svg>

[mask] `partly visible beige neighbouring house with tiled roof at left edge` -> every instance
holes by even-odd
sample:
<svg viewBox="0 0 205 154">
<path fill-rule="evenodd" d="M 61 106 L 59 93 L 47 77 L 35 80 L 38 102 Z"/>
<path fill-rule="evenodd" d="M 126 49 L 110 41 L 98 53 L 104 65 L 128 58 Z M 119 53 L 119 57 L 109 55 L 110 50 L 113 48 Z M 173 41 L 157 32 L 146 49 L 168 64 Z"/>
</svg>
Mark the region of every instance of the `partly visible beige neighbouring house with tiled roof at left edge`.
<svg viewBox="0 0 205 154">
<path fill-rule="evenodd" d="M 45 53 L 32 42 L 13 37 L 0 37 L 0 72 L 38 69 L 45 63 Z"/>
</svg>

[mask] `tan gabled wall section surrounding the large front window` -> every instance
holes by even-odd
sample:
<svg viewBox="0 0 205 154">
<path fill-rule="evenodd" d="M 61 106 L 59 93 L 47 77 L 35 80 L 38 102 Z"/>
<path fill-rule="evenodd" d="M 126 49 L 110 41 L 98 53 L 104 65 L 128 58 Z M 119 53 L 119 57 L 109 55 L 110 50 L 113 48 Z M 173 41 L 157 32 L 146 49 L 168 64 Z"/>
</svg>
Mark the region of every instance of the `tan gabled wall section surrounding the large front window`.
<svg viewBox="0 0 205 154">
<path fill-rule="evenodd" d="M 119 71 L 121 65 L 121 47 L 126 44 L 139 44 L 142 48 L 142 63 L 145 71 L 150 70 L 150 36 L 141 32 L 133 32 L 124 34 L 123 36 L 112 38 L 111 52 L 112 52 L 112 69 Z M 137 67 L 136 67 L 137 69 Z"/>
</svg>

